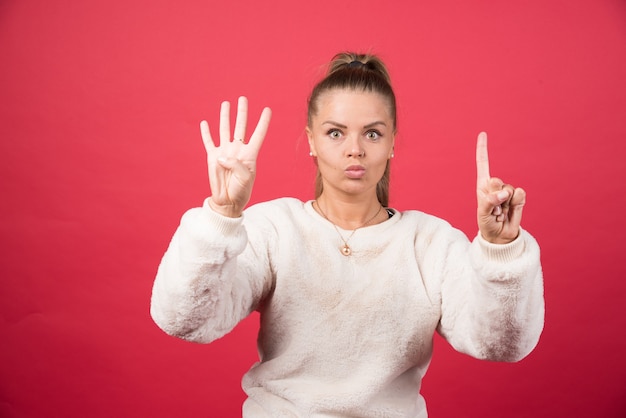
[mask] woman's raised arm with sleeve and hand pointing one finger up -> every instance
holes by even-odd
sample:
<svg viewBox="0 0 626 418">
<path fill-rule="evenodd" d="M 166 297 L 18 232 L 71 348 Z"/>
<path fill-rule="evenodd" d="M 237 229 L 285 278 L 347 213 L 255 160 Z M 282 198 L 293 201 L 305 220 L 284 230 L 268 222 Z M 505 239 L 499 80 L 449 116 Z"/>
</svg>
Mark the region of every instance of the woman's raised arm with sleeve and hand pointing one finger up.
<svg viewBox="0 0 626 418">
<path fill-rule="evenodd" d="M 520 227 L 524 190 L 489 174 L 485 133 L 478 136 L 476 167 L 480 233 L 469 251 L 462 243 L 449 247 L 439 331 L 459 351 L 516 361 L 543 329 L 539 246 Z"/>
</svg>

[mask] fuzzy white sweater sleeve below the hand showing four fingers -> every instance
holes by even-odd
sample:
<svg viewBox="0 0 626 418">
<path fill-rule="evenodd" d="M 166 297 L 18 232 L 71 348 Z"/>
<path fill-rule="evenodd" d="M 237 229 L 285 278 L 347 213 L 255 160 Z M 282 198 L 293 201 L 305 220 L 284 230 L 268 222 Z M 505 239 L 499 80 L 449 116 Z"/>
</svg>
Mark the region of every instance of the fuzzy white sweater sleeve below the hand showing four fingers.
<svg viewBox="0 0 626 418">
<path fill-rule="evenodd" d="M 150 314 L 169 335 L 211 342 L 256 309 L 268 288 L 268 264 L 267 251 L 248 245 L 243 217 L 221 216 L 207 199 L 183 215 L 172 237 Z"/>
</svg>

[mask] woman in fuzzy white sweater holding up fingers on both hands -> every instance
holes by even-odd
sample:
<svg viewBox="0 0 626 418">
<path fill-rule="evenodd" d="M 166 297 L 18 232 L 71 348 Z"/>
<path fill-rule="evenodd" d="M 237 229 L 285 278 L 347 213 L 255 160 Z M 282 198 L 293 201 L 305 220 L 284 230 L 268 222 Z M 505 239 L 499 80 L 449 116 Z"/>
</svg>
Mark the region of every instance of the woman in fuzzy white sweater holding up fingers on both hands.
<svg viewBox="0 0 626 418">
<path fill-rule="evenodd" d="M 344 53 L 309 98 L 315 199 L 250 207 L 270 121 L 249 140 L 206 122 L 211 197 L 182 217 L 159 266 L 151 313 L 166 333 L 208 343 L 257 310 L 260 361 L 243 378 L 244 417 L 426 417 L 419 395 L 439 332 L 456 350 L 518 361 L 543 328 L 536 241 L 520 228 L 525 193 L 491 177 L 477 141 L 479 233 L 388 202 L 396 104 L 384 64 Z"/>
</svg>

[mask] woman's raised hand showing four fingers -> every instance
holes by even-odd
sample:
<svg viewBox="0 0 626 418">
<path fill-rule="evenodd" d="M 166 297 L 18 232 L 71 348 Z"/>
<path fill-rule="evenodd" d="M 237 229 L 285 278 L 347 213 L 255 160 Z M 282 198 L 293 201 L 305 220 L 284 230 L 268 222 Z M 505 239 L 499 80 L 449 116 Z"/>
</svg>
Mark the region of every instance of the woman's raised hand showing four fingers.
<svg viewBox="0 0 626 418">
<path fill-rule="evenodd" d="M 220 142 L 215 146 L 209 124 L 200 122 L 200 134 L 207 152 L 209 184 L 213 210 L 224 216 L 237 218 L 250 200 L 256 176 L 256 160 L 272 117 L 269 108 L 263 109 L 254 133 L 246 141 L 248 99 L 240 97 L 237 103 L 235 131 L 230 131 L 230 103 L 220 109 Z"/>
</svg>

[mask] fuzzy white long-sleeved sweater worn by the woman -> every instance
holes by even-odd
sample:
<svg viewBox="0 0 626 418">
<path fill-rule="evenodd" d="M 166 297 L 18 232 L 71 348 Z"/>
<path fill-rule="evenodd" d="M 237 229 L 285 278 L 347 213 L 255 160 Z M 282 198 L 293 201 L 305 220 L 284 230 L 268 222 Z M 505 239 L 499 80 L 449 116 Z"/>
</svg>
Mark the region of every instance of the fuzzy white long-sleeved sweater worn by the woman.
<svg viewBox="0 0 626 418">
<path fill-rule="evenodd" d="M 208 343 L 260 312 L 244 417 L 422 418 L 435 331 L 481 359 L 517 361 L 537 344 L 543 280 L 526 231 L 470 243 L 439 218 L 396 211 L 358 229 L 344 256 L 311 203 L 278 199 L 232 219 L 205 202 L 158 269 L 151 314 L 170 335 Z"/>
</svg>

